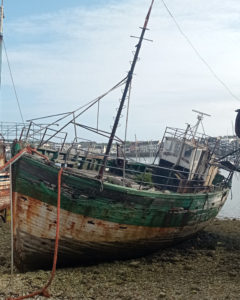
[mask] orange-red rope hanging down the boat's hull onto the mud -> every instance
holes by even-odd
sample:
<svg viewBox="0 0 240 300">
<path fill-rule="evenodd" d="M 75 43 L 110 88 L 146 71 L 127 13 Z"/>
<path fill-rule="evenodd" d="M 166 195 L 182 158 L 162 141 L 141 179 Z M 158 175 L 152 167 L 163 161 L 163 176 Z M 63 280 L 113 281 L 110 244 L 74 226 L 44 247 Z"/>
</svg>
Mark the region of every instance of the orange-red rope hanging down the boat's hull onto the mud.
<svg viewBox="0 0 240 300">
<path fill-rule="evenodd" d="M 35 151 L 34 151 L 35 152 Z M 38 152 L 37 152 L 38 153 Z M 44 296 L 46 298 L 50 297 L 49 292 L 47 291 L 47 288 L 50 286 L 50 284 L 53 281 L 53 278 L 55 276 L 56 272 L 56 266 L 57 266 L 57 257 L 58 257 L 58 243 L 59 243 L 59 229 L 60 229 L 60 204 L 61 204 L 61 178 L 62 178 L 62 172 L 63 168 L 61 168 L 58 172 L 58 199 L 57 199 L 57 224 L 56 224 L 56 239 L 55 239 L 55 249 L 54 249 L 54 257 L 53 257 L 53 266 L 52 266 L 52 272 L 50 275 L 50 278 L 47 282 L 47 284 L 41 289 L 36 292 L 33 292 L 31 294 L 25 295 L 25 296 L 19 296 L 17 298 L 7 298 L 6 300 L 22 300 L 31 298 L 37 295 Z"/>
</svg>

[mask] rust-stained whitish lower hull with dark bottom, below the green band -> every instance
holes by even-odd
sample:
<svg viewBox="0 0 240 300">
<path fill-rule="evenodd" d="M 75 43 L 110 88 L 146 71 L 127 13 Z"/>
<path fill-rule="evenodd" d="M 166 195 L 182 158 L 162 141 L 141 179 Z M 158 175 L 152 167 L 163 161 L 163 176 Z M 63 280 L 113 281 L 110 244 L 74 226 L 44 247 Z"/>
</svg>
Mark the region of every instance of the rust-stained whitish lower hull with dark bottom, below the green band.
<svg viewBox="0 0 240 300">
<path fill-rule="evenodd" d="M 14 193 L 14 259 L 21 270 L 52 263 L 56 207 Z M 16 214 L 17 212 L 17 214 Z M 146 227 L 118 224 L 61 210 L 59 264 L 142 255 L 185 239 L 212 219 L 194 226 Z"/>
</svg>

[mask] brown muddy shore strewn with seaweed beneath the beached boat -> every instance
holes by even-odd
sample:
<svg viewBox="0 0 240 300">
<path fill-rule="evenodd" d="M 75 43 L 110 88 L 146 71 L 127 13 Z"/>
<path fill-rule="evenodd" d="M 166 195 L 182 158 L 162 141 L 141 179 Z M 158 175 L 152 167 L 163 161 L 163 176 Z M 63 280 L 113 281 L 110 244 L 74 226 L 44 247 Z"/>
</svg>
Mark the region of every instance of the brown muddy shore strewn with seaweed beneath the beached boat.
<svg viewBox="0 0 240 300">
<path fill-rule="evenodd" d="M 41 288 L 49 274 L 15 270 L 11 286 L 9 225 L 0 222 L 0 299 Z M 215 220 L 147 257 L 58 269 L 49 292 L 50 299 L 240 299 L 240 221 Z"/>
</svg>

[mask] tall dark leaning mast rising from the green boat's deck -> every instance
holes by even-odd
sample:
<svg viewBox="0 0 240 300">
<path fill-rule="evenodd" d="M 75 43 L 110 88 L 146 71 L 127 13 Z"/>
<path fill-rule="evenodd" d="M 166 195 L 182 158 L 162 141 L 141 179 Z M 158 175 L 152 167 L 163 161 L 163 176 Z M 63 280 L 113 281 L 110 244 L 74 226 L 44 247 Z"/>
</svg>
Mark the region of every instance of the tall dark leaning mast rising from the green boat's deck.
<svg viewBox="0 0 240 300">
<path fill-rule="evenodd" d="M 149 21 L 150 15 L 151 15 L 153 3 L 154 3 L 154 0 L 152 0 L 152 2 L 151 2 L 151 5 L 149 7 L 149 10 L 148 10 L 147 16 L 145 18 L 145 22 L 144 22 L 143 27 L 140 27 L 142 29 L 142 32 L 141 32 L 141 35 L 140 35 L 140 38 L 139 38 L 139 42 L 136 45 L 136 52 L 134 54 L 134 58 L 133 58 L 131 68 L 128 72 L 126 85 L 125 85 L 123 95 L 122 95 L 122 98 L 121 98 L 121 102 L 120 102 L 120 105 L 119 105 L 119 108 L 118 108 L 118 111 L 117 111 L 117 115 L 116 115 L 116 118 L 115 118 L 115 121 L 114 121 L 113 129 L 112 129 L 112 132 L 111 132 L 108 144 L 107 144 L 106 152 L 105 152 L 105 155 L 104 155 L 104 158 L 103 158 L 103 163 L 102 163 L 102 166 L 99 170 L 99 174 L 98 174 L 99 179 L 102 179 L 104 170 L 106 168 L 107 159 L 108 159 L 111 147 L 112 147 L 113 139 L 115 137 L 115 133 L 116 133 L 118 123 L 119 123 L 119 119 L 121 117 L 122 109 L 123 109 L 123 106 L 124 106 L 124 103 L 125 103 L 125 100 L 126 100 L 126 97 L 127 97 L 129 86 L 130 86 L 131 81 L 132 81 L 132 76 L 133 76 L 134 69 L 135 69 L 135 66 L 136 66 L 136 63 L 137 63 L 137 60 L 138 60 L 138 55 L 139 55 L 139 52 L 140 52 L 140 49 L 141 49 L 141 46 L 142 46 L 142 41 L 144 40 L 145 31 L 147 30 L 147 25 L 148 25 L 148 21 Z"/>
</svg>

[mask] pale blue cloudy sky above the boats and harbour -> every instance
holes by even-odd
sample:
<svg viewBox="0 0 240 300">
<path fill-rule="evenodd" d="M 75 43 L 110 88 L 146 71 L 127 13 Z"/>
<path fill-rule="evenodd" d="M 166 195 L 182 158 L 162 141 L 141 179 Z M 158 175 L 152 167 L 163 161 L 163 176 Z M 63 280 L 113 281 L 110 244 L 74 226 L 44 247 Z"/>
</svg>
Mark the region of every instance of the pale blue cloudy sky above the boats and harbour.
<svg viewBox="0 0 240 300">
<path fill-rule="evenodd" d="M 166 0 L 184 32 L 218 76 L 240 97 L 240 3 Z M 129 68 L 149 0 L 6 0 L 4 40 L 24 119 L 69 111 L 104 93 Z M 232 133 L 235 100 L 212 76 L 156 1 L 140 53 L 130 103 L 128 138 L 160 139 L 166 125 L 206 118 L 210 135 Z M 0 117 L 20 121 L 3 53 Z M 101 104 L 110 130 L 121 90 Z M 123 135 L 124 117 L 118 135 Z M 81 119 L 95 126 L 96 109 Z M 85 134 L 85 133 L 84 133 Z M 87 135 L 86 135 L 87 136 Z"/>
</svg>

